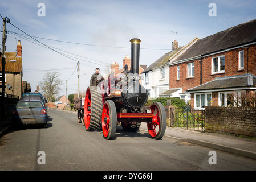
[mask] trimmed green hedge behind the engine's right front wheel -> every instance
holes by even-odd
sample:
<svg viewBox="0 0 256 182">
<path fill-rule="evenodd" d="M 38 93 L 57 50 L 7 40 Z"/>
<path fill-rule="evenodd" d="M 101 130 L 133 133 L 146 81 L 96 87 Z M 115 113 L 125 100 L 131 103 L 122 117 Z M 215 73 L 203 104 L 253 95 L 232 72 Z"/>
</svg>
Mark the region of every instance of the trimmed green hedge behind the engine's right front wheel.
<svg viewBox="0 0 256 182">
<path fill-rule="evenodd" d="M 162 105 L 167 105 L 167 100 L 171 100 L 171 105 L 176 106 L 178 108 L 184 108 L 186 106 L 186 103 L 184 100 L 181 100 L 180 98 L 174 98 L 174 97 L 159 97 L 153 100 L 148 100 L 146 102 L 146 106 L 150 106 L 153 104 L 153 102 L 161 102 Z"/>
</svg>

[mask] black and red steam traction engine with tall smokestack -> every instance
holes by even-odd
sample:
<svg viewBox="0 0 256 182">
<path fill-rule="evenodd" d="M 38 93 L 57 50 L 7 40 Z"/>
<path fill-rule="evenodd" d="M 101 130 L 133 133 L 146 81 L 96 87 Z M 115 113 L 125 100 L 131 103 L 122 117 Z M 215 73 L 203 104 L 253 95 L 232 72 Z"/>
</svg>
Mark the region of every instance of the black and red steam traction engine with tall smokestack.
<svg viewBox="0 0 256 182">
<path fill-rule="evenodd" d="M 84 125 L 87 131 L 100 130 L 103 137 L 115 137 L 117 123 L 125 131 L 137 131 L 141 122 L 147 122 L 149 135 L 161 139 L 166 129 L 166 113 L 160 102 L 154 102 L 151 113 L 143 113 L 148 91 L 141 86 L 139 76 L 140 39 L 132 39 L 131 71 L 125 65 L 119 77 L 110 75 L 108 81 L 87 88 L 84 100 Z"/>
</svg>

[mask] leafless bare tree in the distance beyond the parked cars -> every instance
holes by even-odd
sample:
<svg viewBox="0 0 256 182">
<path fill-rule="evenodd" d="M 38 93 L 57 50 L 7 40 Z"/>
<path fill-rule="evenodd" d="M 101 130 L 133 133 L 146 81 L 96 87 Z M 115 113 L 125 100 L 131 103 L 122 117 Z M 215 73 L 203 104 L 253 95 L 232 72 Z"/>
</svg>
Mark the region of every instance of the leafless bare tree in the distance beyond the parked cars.
<svg viewBox="0 0 256 182">
<path fill-rule="evenodd" d="M 43 81 L 39 82 L 40 90 L 47 100 L 52 101 L 52 98 L 59 93 L 60 86 L 63 85 L 63 80 L 60 80 L 59 76 L 59 72 L 47 72 Z"/>
</svg>

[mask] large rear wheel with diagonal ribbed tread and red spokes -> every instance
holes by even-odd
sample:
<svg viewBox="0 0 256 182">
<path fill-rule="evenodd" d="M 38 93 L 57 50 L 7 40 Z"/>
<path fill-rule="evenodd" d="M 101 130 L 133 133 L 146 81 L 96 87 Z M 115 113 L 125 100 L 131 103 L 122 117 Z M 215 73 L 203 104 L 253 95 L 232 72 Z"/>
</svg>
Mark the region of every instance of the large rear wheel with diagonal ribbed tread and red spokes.
<svg viewBox="0 0 256 182">
<path fill-rule="evenodd" d="M 87 131 L 100 130 L 102 112 L 102 96 L 96 86 L 86 90 L 84 99 L 84 126 Z"/>
</svg>

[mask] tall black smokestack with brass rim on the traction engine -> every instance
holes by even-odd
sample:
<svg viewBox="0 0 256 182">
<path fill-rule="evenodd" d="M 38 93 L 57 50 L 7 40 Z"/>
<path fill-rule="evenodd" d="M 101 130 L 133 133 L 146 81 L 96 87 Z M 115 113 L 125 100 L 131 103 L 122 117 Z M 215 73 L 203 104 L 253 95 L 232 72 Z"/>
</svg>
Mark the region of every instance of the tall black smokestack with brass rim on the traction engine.
<svg viewBox="0 0 256 182">
<path fill-rule="evenodd" d="M 130 42 L 132 43 L 132 68 L 131 72 L 133 74 L 139 74 L 139 63 L 140 63 L 140 39 L 131 39 Z"/>
</svg>

